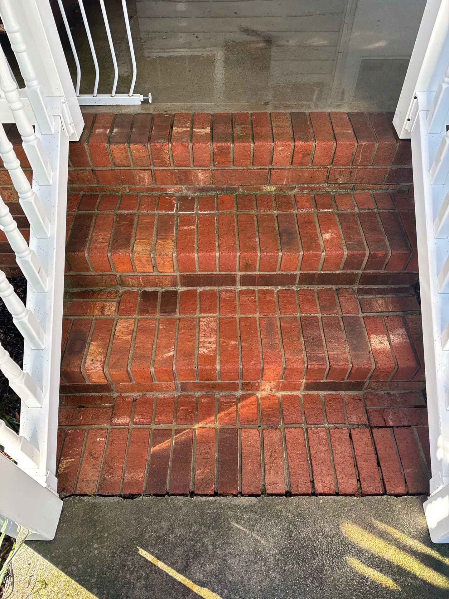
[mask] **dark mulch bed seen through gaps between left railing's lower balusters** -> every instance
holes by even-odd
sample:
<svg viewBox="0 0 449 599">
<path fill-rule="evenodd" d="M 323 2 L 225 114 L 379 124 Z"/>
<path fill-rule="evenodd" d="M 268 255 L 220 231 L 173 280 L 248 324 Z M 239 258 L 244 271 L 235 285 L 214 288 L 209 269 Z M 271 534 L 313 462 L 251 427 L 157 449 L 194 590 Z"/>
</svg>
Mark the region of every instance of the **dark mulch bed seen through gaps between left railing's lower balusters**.
<svg viewBox="0 0 449 599">
<path fill-rule="evenodd" d="M 24 277 L 11 277 L 9 281 L 11 285 L 13 285 L 16 294 L 25 303 L 26 279 Z M 17 331 L 17 328 L 13 323 L 13 318 L 2 301 L 0 301 L 0 343 L 10 353 L 11 358 L 13 358 L 19 366 L 22 366 L 23 337 L 20 335 L 19 331 Z M 19 432 L 19 415 L 20 400 L 14 391 L 10 389 L 7 378 L 0 373 L 0 418 L 5 420 L 14 431 Z M 5 537 L 2 546 L 0 547 L 0 569 L 11 551 L 13 542 L 14 540 L 10 537 Z M 6 588 L 8 582 L 7 575 L 0 587 L 0 597 L 2 597 L 2 592 Z"/>
</svg>

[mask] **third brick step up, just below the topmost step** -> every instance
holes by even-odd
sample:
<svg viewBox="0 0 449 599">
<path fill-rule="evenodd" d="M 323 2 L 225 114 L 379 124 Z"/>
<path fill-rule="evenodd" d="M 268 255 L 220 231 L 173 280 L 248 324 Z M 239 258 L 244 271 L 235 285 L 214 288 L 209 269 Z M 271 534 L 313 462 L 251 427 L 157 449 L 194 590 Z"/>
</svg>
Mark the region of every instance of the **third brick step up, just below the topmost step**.
<svg viewBox="0 0 449 599">
<path fill-rule="evenodd" d="M 66 285 L 412 285 L 408 193 L 72 194 Z"/>
</svg>

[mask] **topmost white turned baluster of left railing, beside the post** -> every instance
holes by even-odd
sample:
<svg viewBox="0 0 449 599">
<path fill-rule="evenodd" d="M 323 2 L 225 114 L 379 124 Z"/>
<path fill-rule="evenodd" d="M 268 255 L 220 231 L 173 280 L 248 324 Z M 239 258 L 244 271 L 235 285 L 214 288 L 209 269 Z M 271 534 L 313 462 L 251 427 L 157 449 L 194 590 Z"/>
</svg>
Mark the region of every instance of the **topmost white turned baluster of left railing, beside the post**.
<svg viewBox="0 0 449 599">
<path fill-rule="evenodd" d="M 48 107 L 44 89 L 38 81 L 37 74 L 31 62 L 25 39 L 10 0 L 0 0 L 0 16 L 5 31 L 10 38 L 20 72 L 26 85 L 26 95 L 33 108 L 36 120 L 43 134 L 54 133 L 54 119 Z"/>
</svg>

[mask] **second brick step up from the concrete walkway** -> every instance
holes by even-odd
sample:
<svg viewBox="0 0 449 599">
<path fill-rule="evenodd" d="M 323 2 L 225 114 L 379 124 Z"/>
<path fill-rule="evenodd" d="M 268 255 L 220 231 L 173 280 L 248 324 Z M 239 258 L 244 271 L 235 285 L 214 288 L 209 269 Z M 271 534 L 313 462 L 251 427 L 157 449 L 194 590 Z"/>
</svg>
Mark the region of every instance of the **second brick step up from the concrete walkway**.
<svg viewBox="0 0 449 599">
<path fill-rule="evenodd" d="M 417 298 L 411 288 L 391 293 L 74 293 L 65 306 L 62 391 L 423 389 Z"/>
</svg>

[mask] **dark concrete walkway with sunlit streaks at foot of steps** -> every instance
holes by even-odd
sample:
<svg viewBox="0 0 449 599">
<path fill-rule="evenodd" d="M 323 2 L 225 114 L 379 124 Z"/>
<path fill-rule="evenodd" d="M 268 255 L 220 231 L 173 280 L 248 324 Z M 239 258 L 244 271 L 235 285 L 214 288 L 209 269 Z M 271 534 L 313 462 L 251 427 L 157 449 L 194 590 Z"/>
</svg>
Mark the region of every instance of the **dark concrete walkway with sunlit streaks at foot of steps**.
<svg viewBox="0 0 449 599">
<path fill-rule="evenodd" d="M 10 597 L 448 597 L 449 547 L 430 543 L 421 504 L 68 498 L 56 539 L 18 553 Z"/>
</svg>

